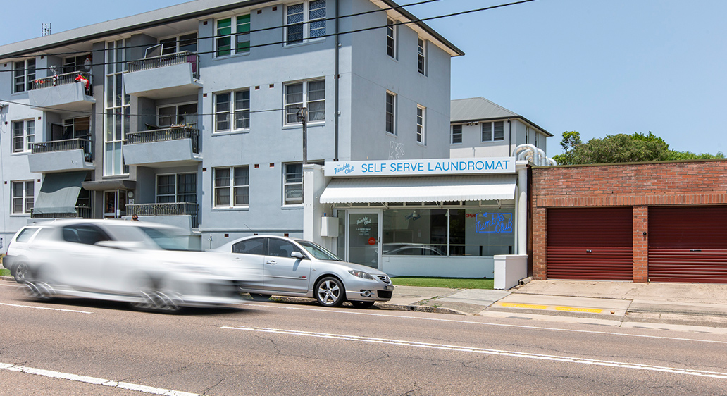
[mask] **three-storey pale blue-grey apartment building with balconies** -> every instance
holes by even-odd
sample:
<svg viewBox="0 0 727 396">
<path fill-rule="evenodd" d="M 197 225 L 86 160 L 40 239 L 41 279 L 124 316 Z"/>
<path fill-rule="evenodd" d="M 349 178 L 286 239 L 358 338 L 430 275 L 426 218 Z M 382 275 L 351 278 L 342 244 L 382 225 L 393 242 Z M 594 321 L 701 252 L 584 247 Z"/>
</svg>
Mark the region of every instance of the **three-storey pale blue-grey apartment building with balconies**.
<svg viewBox="0 0 727 396">
<path fill-rule="evenodd" d="M 60 217 L 302 236 L 303 118 L 310 163 L 449 157 L 463 52 L 396 6 L 197 0 L 1 46 L 0 251 Z"/>
</svg>

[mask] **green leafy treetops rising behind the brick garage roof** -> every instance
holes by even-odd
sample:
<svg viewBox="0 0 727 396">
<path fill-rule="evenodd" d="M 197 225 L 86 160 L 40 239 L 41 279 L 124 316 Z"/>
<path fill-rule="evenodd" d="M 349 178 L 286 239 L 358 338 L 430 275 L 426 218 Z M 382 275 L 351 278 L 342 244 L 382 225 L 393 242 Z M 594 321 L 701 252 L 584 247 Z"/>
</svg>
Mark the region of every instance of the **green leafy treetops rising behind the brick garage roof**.
<svg viewBox="0 0 727 396">
<path fill-rule="evenodd" d="M 724 158 L 723 153 L 711 155 L 670 150 L 664 139 L 651 132 L 607 134 L 606 137 L 594 138 L 587 143 L 581 142 L 579 132 L 563 132 L 561 147 L 564 153 L 553 157 L 559 165 Z"/>
</svg>

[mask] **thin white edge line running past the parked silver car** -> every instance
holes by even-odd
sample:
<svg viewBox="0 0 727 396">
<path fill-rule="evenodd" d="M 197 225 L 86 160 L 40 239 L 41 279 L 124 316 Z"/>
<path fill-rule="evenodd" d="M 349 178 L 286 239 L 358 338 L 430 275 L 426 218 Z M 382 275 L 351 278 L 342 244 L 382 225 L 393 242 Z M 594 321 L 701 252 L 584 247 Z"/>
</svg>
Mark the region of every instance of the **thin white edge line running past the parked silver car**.
<svg viewBox="0 0 727 396">
<path fill-rule="evenodd" d="M 344 313 L 348 315 L 367 315 L 367 316 L 382 316 L 385 318 L 398 318 L 398 319 L 414 319 L 414 320 L 430 320 L 433 322 L 448 322 L 448 323 L 467 323 L 469 325 L 480 325 L 480 326 L 494 326 L 494 327 L 511 327 L 511 328 L 527 328 L 531 330 L 548 330 L 548 331 L 566 331 L 569 333 L 584 333 L 584 334 L 603 334 L 608 336 L 624 336 L 624 337 L 637 337 L 646 339 L 669 339 L 674 341 L 693 341 L 693 342 L 707 342 L 714 344 L 727 344 L 727 341 L 715 341 L 711 339 L 688 339 L 681 337 L 665 337 L 665 336 L 647 336 L 644 334 L 627 334 L 627 333 L 615 333 L 614 331 L 593 331 L 593 330 L 577 330 L 573 328 L 553 328 L 543 326 L 525 326 L 525 325 L 509 325 L 505 323 L 484 323 L 484 322 L 472 322 L 469 320 L 454 320 L 454 319 L 440 319 L 440 318 L 420 318 L 416 316 L 403 316 L 403 315 L 386 315 L 382 313 L 369 313 L 369 312 L 347 312 L 345 310 L 332 310 L 332 309 L 316 309 L 316 308 L 300 308 L 300 307 L 280 307 L 273 304 L 254 304 L 262 307 L 278 308 L 281 310 L 302 310 L 302 311 L 316 311 L 316 312 L 327 312 L 327 313 Z M 248 307 L 253 307 L 253 304 L 249 304 Z"/>
</svg>

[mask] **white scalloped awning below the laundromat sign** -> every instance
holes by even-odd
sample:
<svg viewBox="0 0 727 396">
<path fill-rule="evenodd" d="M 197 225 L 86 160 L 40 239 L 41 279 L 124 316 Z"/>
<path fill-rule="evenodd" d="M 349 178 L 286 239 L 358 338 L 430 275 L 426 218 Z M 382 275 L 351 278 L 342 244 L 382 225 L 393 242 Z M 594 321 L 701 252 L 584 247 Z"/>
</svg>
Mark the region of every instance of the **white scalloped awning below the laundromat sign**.
<svg viewBox="0 0 727 396">
<path fill-rule="evenodd" d="M 515 199 L 514 174 L 333 179 L 321 203 L 486 201 Z"/>
</svg>

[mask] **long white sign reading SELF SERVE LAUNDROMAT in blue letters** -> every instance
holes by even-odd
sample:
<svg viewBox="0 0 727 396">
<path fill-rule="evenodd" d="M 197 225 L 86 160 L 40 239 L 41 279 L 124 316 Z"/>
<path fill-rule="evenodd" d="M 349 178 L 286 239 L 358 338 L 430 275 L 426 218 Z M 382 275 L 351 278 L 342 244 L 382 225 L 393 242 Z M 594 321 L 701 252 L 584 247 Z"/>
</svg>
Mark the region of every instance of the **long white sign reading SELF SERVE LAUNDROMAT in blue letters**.
<svg viewBox="0 0 727 396">
<path fill-rule="evenodd" d="M 514 174 L 515 157 L 328 161 L 326 177 Z"/>
</svg>

